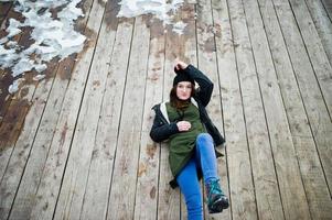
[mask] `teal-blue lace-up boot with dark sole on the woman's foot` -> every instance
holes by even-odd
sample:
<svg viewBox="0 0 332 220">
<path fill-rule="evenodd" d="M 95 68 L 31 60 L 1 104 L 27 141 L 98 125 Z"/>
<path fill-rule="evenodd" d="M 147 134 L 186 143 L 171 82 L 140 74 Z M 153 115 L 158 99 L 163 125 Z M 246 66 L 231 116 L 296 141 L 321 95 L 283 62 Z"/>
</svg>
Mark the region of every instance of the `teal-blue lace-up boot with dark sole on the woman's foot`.
<svg viewBox="0 0 332 220">
<path fill-rule="evenodd" d="M 229 207 L 228 198 L 221 189 L 219 179 L 211 180 L 206 185 L 207 208 L 210 213 L 222 212 Z"/>
</svg>

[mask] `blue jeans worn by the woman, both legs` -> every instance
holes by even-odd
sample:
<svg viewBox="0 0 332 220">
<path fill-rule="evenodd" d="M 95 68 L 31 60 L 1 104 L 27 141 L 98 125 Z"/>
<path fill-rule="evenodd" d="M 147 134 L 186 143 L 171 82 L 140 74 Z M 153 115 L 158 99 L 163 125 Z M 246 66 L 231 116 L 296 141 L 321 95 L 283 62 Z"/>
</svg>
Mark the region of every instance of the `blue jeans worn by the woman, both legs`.
<svg viewBox="0 0 332 220">
<path fill-rule="evenodd" d="M 189 161 L 176 177 L 176 182 L 185 198 L 189 220 L 203 219 L 203 199 L 197 168 L 202 168 L 205 184 L 218 178 L 213 139 L 208 133 L 197 135 L 195 156 Z"/>
</svg>

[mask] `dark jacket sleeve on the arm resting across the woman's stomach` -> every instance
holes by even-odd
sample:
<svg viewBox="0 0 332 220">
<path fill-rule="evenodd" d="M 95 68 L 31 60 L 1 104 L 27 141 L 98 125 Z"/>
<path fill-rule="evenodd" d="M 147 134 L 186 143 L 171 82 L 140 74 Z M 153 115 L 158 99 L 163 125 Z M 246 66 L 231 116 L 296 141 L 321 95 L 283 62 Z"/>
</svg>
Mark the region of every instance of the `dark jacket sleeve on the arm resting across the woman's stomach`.
<svg viewBox="0 0 332 220">
<path fill-rule="evenodd" d="M 168 140 L 172 134 L 179 132 L 175 122 L 164 123 L 159 114 L 156 114 L 153 125 L 150 131 L 150 136 L 154 142 Z"/>
</svg>

